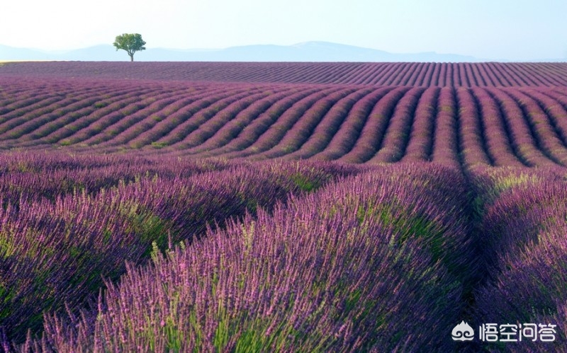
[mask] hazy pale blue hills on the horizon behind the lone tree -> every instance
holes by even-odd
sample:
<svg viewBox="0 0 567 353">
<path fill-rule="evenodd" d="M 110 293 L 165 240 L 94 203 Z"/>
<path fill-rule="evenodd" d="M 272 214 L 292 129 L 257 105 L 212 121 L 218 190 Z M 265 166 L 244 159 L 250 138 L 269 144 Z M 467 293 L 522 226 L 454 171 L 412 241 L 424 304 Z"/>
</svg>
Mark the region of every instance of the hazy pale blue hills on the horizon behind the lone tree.
<svg viewBox="0 0 567 353">
<path fill-rule="evenodd" d="M 332 42 L 304 42 L 296 45 L 246 45 L 218 50 L 172 50 L 149 48 L 137 52 L 140 62 L 481 62 L 458 54 L 422 52 L 395 54 Z M 43 51 L 0 45 L 1 60 L 128 61 L 128 55 L 112 45 L 79 50 Z"/>
</svg>

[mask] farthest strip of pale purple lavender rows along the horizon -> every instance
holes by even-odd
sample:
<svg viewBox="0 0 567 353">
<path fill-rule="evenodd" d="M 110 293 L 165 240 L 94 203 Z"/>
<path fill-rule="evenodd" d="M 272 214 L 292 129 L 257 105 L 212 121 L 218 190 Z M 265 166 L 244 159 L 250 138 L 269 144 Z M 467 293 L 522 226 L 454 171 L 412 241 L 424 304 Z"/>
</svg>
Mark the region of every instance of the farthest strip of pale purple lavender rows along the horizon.
<svg viewBox="0 0 567 353">
<path fill-rule="evenodd" d="M 174 81 L 339 83 L 371 86 L 566 86 L 564 63 L 25 62 L 1 76 Z"/>
</svg>

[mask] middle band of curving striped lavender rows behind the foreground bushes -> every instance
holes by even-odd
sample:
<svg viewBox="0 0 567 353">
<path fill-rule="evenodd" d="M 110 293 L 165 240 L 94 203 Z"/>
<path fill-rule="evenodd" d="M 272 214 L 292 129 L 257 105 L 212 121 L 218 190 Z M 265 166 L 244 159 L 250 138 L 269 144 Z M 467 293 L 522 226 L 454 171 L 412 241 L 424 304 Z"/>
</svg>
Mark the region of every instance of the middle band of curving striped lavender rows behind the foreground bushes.
<svg viewBox="0 0 567 353">
<path fill-rule="evenodd" d="M 563 87 L 0 82 L 1 149 L 567 166 Z"/>
</svg>

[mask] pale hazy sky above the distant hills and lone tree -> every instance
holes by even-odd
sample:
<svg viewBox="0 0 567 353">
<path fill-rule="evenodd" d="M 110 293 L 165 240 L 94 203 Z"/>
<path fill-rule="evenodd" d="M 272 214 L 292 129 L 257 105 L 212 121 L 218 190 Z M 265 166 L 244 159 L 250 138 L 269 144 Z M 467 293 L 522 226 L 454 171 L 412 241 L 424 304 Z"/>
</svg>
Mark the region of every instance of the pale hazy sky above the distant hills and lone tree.
<svg viewBox="0 0 567 353">
<path fill-rule="evenodd" d="M 1 0 L 0 45 L 66 50 L 140 33 L 146 47 L 324 40 L 483 59 L 567 57 L 567 0 Z"/>
</svg>

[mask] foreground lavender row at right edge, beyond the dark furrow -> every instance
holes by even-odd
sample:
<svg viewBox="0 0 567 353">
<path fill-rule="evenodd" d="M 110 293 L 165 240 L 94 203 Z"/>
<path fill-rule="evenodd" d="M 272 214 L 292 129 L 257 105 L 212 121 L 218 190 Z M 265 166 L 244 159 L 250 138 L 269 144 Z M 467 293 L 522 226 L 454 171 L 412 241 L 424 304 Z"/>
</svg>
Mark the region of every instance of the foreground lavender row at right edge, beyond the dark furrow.
<svg viewBox="0 0 567 353">
<path fill-rule="evenodd" d="M 485 199 L 480 228 L 485 281 L 476 290 L 475 320 L 556 325 L 554 342 L 524 340 L 522 349 L 565 352 L 567 172 L 487 168 L 477 173 L 475 183 L 483 185 Z"/>
</svg>

